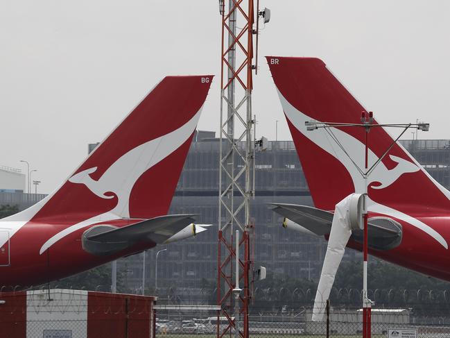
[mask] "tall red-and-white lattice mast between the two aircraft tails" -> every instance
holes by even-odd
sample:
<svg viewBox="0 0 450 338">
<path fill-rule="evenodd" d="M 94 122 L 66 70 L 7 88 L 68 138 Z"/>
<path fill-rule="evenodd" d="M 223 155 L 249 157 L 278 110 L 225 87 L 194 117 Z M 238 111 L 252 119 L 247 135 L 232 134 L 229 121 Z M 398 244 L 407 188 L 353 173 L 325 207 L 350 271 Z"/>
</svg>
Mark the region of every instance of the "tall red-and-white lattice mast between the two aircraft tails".
<svg viewBox="0 0 450 338">
<path fill-rule="evenodd" d="M 253 30 L 253 0 L 219 0 L 219 10 L 222 52 L 217 301 L 221 307 L 218 317 L 225 317 L 228 325 L 220 326 L 218 320 L 217 337 L 230 336 L 234 331 L 235 337 L 246 338 L 252 264 L 249 232 L 254 228 L 250 221 L 255 144 L 252 133 L 255 122 L 252 119 L 252 70 L 255 67 L 252 60 L 253 35 L 257 31 Z M 243 247 L 241 257 L 239 246 Z M 240 321 L 243 326 L 239 325 Z"/>
</svg>

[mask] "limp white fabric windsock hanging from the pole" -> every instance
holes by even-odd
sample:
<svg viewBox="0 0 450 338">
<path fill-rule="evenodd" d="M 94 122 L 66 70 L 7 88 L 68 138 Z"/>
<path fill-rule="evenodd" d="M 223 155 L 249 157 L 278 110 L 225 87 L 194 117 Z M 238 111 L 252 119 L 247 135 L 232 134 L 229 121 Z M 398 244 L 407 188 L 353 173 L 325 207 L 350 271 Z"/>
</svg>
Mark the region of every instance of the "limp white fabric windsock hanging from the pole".
<svg viewBox="0 0 450 338">
<path fill-rule="evenodd" d="M 345 253 L 345 246 L 352 235 L 349 221 L 349 208 L 352 194 L 336 204 L 331 232 L 328 239 L 327 253 L 320 274 L 317 293 L 315 294 L 312 321 L 322 321 L 327 299 L 333 287 L 334 278 L 340 261 Z"/>
</svg>

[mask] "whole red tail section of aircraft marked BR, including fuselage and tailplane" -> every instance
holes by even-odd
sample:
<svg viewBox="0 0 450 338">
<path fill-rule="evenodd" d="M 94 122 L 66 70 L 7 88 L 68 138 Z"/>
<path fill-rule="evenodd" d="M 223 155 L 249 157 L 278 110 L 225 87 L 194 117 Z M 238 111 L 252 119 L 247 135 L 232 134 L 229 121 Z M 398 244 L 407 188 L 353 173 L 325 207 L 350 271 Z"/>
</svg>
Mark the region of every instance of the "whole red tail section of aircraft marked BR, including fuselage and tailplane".
<svg viewBox="0 0 450 338">
<path fill-rule="evenodd" d="M 315 208 L 273 203 L 284 226 L 329 235 L 335 205 L 364 192 L 365 130 L 332 127 L 307 130 L 306 122 L 361 124 L 366 110 L 318 58 L 267 57 Z M 374 124 L 377 122 L 374 121 Z M 383 128 L 369 134 L 369 167 L 388 150 Z M 450 192 L 395 144 L 368 177 L 369 253 L 450 281 Z M 347 246 L 361 250 L 362 232 Z"/>
</svg>

